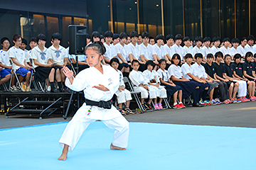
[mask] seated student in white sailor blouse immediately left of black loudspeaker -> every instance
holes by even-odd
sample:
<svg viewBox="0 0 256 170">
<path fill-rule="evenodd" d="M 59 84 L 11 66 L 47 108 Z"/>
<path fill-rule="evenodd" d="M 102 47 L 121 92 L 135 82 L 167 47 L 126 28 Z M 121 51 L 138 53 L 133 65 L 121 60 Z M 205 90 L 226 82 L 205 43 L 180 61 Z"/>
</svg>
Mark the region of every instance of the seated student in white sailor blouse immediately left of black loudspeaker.
<svg viewBox="0 0 256 170">
<path fill-rule="evenodd" d="M 58 83 L 58 90 L 64 92 L 65 75 L 63 73 L 63 67 L 68 64 L 68 53 L 65 47 L 60 45 L 60 42 L 60 33 L 54 33 L 51 38 L 53 45 L 48 48 L 48 55 L 50 63 L 55 64 L 55 79 Z"/>
</svg>

